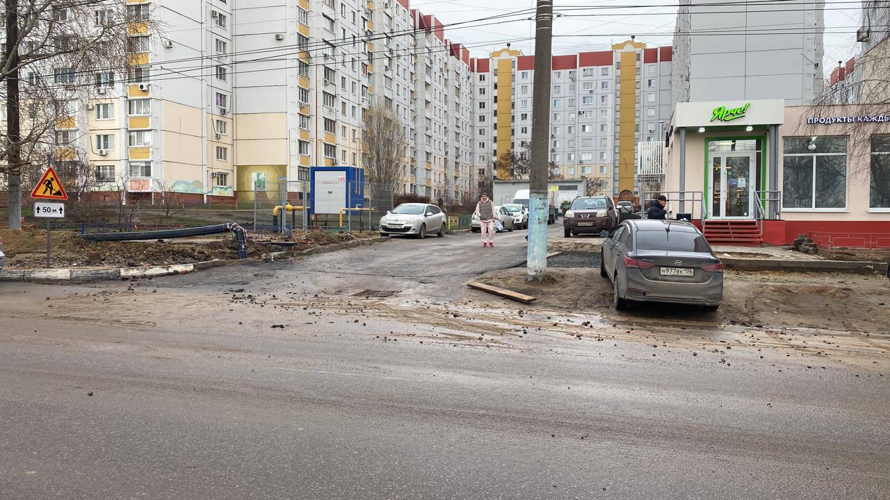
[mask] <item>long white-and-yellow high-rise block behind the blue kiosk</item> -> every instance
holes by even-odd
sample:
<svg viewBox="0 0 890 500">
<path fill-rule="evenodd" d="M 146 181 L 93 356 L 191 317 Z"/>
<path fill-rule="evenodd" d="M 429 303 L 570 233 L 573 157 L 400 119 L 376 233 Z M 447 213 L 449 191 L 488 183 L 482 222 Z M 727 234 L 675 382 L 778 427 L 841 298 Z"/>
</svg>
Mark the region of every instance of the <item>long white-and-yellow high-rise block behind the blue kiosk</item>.
<svg viewBox="0 0 890 500">
<path fill-rule="evenodd" d="M 131 23 L 129 74 L 97 74 L 99 98 L 56 133 L 85 151 L 100 192 L 277 200 L 312 165 L 362 166 L 371 106 L 403 125 L 403 192 L 473 189 L 469 52 L 408 0 L 127 4 L 160 32 Z"/>
</svg>

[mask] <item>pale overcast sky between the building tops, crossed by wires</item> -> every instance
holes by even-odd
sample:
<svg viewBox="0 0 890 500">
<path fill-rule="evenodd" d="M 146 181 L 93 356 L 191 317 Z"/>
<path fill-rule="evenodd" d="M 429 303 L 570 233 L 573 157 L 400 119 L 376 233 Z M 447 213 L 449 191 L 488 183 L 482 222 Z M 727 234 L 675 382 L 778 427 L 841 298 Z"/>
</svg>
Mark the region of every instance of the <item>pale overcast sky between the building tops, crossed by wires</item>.
<svg viewBox="0 0 890 500">
<path fill-rule="evenodd" d="M 670 4 L 665 7 L 663 5 Z M 481 6 L 484 5 L 484 6 Z M 586 5 L 598 7 L 611 5 L 614 9 L 586 10 Z M 640 5 L 640 8 L 622 6 Z M 486 57 L 492 50 L 501 48 L 507 41 L 511 47 L 525 54 L 534 53 L 533 22 L 523 20 L 532 15 L 535 6 L 531 0 L 417 0 L 411 8 L 425 14 L 433 14 L 446 25 L 445 36 L 467 44 L 473 57 Z M 562 17 L 554 21 L 554 54 L 608 50 L 611 44 L 635 35 L 637 40 L 651 46 L 670 45 L 676 22 L 676 2 L 662 0 L 556 0 L 555 10 L 578 7 L 575 11 L 562 11 Z M 825 60 L 822 67 L 832 69 L 837 60 L 847 60 L 856 52 L 855 31 L 859 28 L 860 2 L 827 2 L 825 5 Z M 500 20 L 486 20 L 492 16 L 529 9 L 528 14 L 514 15 Z M 577 14 L 599 12 L 608 15 L 570 17 Z M 449 24 L 468 23 L 470 26 Z M 474 27 L 472 25 L 482 25 Z M 580 34 L 596 36 L 578 36 Z"/>
</svg>

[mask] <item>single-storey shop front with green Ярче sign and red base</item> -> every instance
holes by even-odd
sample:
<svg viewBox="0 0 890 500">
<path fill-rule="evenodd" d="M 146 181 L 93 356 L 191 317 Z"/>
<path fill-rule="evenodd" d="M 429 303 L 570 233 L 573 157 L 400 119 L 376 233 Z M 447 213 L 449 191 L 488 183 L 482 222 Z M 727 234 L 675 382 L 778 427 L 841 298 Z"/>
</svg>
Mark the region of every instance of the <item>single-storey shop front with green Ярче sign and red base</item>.
<svg viewBox="0 0 890 500">
<path fill-rule="evenodd" d="M 774 245 L 812 233 L 837 246 L 890 246 L 890 117 L 868 108 L 678 104 L 667 133 L 670 208 L 706 232 L 755 227 Z"/>
</svg>

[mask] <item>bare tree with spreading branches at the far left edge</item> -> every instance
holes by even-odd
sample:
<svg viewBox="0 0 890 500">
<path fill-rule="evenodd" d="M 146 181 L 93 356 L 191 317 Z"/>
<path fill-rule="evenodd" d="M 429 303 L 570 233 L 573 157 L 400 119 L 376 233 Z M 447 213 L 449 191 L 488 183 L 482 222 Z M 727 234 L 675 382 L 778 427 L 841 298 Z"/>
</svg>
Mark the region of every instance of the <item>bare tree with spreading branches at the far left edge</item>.
<svg viewBox="0 0 890 500">
<path fill-rule="evenodd" d="M 154 24 L 147 4 L 117 0 L 4 0 L 0 9 L 6 31 L 0 95 L 7 109 L 0 174 L 9 193 L 10 228 L 19 230 L 22 175 L 43 166 L 36 160 L 46 150 L 74 146 L 69 141 L 77 135 L 76 103 L 129 75 L 141 62 L 135 52 L 148 50 Z M 72 156 L 65 152 L 61 159 Z"/>
</svg>

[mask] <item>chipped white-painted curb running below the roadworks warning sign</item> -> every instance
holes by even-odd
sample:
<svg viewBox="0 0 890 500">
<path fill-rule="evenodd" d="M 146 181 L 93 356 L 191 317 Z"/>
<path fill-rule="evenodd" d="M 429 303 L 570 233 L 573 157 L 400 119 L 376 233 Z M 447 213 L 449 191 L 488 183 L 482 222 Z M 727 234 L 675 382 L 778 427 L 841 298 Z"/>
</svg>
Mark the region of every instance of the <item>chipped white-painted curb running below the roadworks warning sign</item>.
<svg viewBox="0 0 890 500">
<path fill-rule="evenodd" d="M 0 281 L 86 282 L 106 281 L 109 279 L 156 278 L 172 274 L 187 274 L 196 270 L 206 270 L 239 262 L 216 259 L 214 261 L 195 262 L 193 264 L 172 264 L 145 268 L 0 270 Z"/>
</svg>

